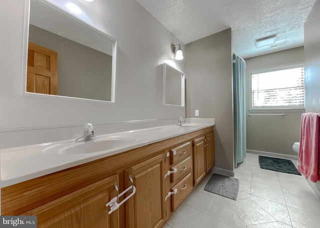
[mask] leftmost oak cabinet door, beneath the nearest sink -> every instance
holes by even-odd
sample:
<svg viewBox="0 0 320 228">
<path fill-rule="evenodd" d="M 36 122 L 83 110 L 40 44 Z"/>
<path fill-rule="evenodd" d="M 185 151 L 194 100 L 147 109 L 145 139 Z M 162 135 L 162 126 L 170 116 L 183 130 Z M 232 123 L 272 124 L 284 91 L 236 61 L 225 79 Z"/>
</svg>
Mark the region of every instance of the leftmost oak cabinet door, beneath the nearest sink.
<svg viewBox="0 0 320 228">
<path fill-rule="evenodd" d="M 105 206 L 116 196 L 113 184 L 117 181 L 117 175 L 102 179 L 23 215 L 36 215 L 38 228 L 119 227 L 118 210 L 108 214 Z"/>
</svg>

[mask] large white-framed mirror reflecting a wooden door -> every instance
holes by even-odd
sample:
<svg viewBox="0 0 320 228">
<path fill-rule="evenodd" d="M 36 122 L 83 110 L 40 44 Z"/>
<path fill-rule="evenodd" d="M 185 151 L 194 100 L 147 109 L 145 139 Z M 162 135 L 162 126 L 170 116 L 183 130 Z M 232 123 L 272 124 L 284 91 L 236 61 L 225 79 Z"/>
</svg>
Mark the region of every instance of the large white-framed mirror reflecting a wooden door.
<svg viewBox="0 0 320 228">
<path fill-rule="evenodd" d="M 25 94 L 114 102 L 115 55 L 111 36 L 46 0 L 30 0 Z"/>
</svg>

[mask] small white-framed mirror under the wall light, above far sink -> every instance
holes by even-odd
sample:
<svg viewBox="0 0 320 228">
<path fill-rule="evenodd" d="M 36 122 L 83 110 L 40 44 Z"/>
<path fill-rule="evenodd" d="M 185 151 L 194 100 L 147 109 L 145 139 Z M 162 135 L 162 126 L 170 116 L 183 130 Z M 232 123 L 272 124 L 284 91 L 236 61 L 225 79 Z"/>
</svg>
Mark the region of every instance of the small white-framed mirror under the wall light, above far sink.
<svg viewBox="0 0 320 228">
<path fill-rule="evenodd" d="M 184 106 L 184 73 L 174 67 L 162 64 L 163 104 Z"/>
</svg>

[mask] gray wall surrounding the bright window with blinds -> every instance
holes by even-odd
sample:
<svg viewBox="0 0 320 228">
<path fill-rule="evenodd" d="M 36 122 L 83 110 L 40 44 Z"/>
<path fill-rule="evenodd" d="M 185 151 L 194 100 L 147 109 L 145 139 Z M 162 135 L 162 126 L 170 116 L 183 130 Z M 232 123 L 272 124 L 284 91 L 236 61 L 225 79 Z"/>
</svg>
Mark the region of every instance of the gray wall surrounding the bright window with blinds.
<svg viewBox="0 0 320 228">
<path fill-rule="evenodd" d="M 246 63 L 246 106 L 249 108 L 250 70 L 276 67 L 285 64 L 303 63 L 303 47 L 278 51 L 245 59 Z M 265 152 L 297 155 L 292 144 L 299 141 L 300 119 L 303 110 L 279 110 L 276 112 L 247 112 L 246 148 Z M 284 113 L 281 115 L 251 115 L 260 113 Z"/>
</svg>

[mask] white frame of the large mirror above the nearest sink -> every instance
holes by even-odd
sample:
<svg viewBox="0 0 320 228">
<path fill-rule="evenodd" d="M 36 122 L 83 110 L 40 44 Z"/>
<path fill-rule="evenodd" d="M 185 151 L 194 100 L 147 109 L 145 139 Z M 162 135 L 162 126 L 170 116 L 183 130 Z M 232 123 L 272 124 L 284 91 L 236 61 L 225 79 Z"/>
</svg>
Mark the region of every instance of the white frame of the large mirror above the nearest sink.
<svg viewBox="0 0 320 228">
<path fill-rule="evenodd" d="M 57 99 L 68 99 L 68 100 L 83 100 L 83 101 L 92 101 L 92 102 L 103 102 L 103 103 L 114 103 L 115 102 L 115 71 L 116 71 L 116 50 L 117 50 L 117 40 L 102 30 L 94 27 L 91 24 L 88 24 L 84 20 L 79 17 L 71 14 L 65 9 L 47 1 L 47 0 L 34 0 L 46 7 L 51 8 L 52 10 L 61 13 L 67 18 L 77 22 L 86 28 L 96 32 L 105 38 L 108 38 L 113 41 L 112 46 L 112 72 L 111 72 L 111 97 L 109 100 L 96 100 L 96 99 L 88 99 L 88 98 L 80 98 L 80 97 L 71 97 L 71 96 L 61 96 L 61 95 L 51 95 L 51 94 L 42 94 L 42 93 L 34 93 L 34 92 L 26 92 L 26 73 L 27 73 L 27 54 L 28 54 L 28 38 L 29 38 L 29 19 L 30 19 L 30 1 L 25 0 L 25 8 L 24 8 L 24 23 L 23 23 L 23 42 L 22 42 L 22 80 L 21 80 L 21 94 L 22 95 L 30 95 L 37 97 L 45 97 L 45 98 L 57 98 Z"/>
</svg>

